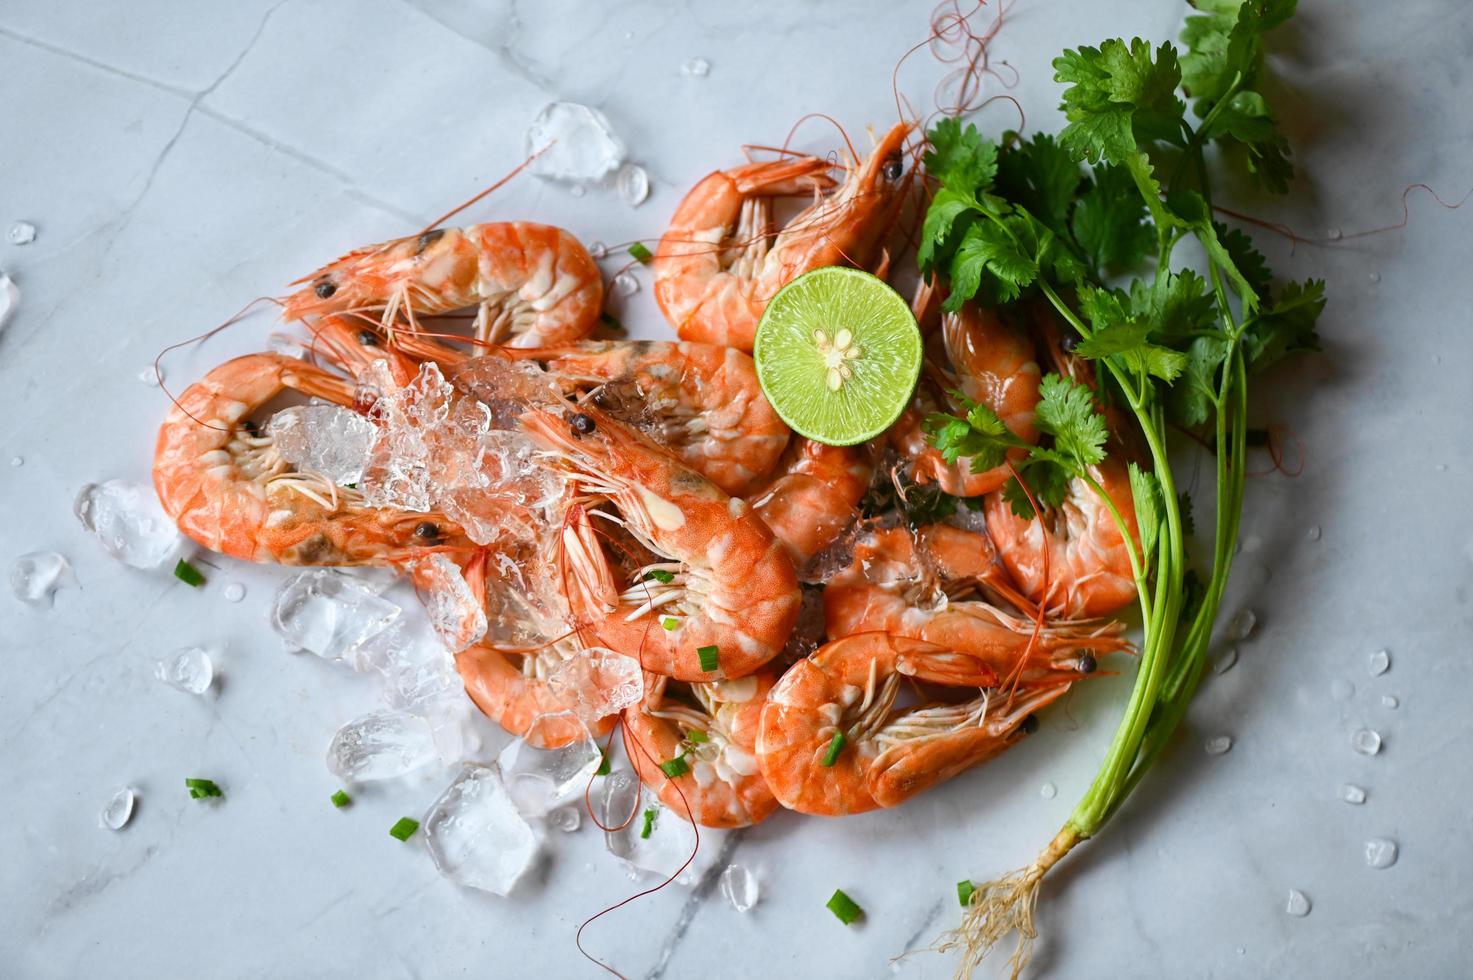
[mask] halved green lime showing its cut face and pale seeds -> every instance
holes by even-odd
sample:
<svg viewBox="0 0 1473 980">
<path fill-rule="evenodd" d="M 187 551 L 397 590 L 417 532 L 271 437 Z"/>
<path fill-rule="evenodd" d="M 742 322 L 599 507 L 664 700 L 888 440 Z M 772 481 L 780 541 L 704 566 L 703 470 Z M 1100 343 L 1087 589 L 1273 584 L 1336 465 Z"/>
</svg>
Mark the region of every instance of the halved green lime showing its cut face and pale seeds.
<svg viewBox="0 0 1473 980">
<path fill-rule="evenodd" d="M 772 298 L 751 354 L 762 391 L 794 432 L 854 445 L 904 411 L 921 374 L 921 332 L 884 281 L 829 265 Z"/>
</svg>

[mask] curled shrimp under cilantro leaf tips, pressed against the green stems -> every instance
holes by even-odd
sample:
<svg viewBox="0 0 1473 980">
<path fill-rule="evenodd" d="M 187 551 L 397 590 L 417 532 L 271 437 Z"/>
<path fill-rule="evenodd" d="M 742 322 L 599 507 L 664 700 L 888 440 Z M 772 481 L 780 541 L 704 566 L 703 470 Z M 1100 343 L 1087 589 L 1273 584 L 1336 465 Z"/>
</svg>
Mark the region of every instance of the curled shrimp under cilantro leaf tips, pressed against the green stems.
<svg viewBox="0 0 1473 980">
<path fill-rule="evenodd" d="M 1090 476 L 1115 503 L 1139 547 L 1140 529 L 1125 464 L 1111 455 L 1091 466 Z M 1105 501 L 1084 480 L 1071 480 L 1064 503 L 1046 508 L 1041 523 L 1015 514 L 1000 492 L 987 497 L 985 510 L 987 532 L 1003 564 L 1024 594 L 1050 613 L 1108 616 L 1136 598 L 1136 575 L 1125 539 Z M 1047 594 L 1044 548 L 1049 551 Z"/>
</svg>

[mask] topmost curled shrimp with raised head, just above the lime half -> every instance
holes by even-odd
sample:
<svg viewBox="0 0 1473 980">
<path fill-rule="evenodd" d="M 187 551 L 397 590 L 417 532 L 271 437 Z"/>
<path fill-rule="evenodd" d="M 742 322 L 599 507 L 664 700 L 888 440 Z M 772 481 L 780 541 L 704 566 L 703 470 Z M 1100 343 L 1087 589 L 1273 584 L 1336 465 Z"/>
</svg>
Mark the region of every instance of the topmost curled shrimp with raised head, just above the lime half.
<svg viewBox="0 0 1473 980">
<path fill-rule="evenodd" d="M 776 234 L 770 199 L 831 187 L 825 161 L 747 164 L 695 184 L 654 253 L 654 295 L 676 333 L 751 351 L 762 311 L 790 281 L 820 265 L 875 265 L 910 189 L 901 152 L 910 130 L 890 130 Z"/>
</svg>

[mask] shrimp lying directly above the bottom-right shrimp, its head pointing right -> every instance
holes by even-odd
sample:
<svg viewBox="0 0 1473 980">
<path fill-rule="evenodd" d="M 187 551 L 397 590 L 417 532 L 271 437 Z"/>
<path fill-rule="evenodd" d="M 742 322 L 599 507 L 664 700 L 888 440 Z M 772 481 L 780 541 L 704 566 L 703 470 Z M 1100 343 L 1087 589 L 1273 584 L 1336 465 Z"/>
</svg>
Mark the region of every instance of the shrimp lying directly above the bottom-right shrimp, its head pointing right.
<svg viewBox="0 0 1473 980">
<path fill-rule="evenodd" d="M 962 538 L 975 541 L 980 553 L 990 551 L 985 535 L 932 525 L 918 532 L 918 538 L 904 528 L 871 531 L 859 538 L 853 564 L 823 591 L 829 637 L 881 631 L 925 640 L 977 659 L 1009 687 L 1077 679 L 1094 672 L 1096 654 L 1125 648 L 1115 625 L 1047 622 L 1036 631 L 1031 619 L 985 597 L 962 598 L 969 595 L 969 587 L 996 589 L 994 584 L 1002 584 L 1000 569 L 985 559 L 971 569 L 956 569 L 981 575 L 953 576 L 946 567 L 960 564 Z M 950 561 L 934 559 L 931 542 L 938 542 Z"/>
</svg>

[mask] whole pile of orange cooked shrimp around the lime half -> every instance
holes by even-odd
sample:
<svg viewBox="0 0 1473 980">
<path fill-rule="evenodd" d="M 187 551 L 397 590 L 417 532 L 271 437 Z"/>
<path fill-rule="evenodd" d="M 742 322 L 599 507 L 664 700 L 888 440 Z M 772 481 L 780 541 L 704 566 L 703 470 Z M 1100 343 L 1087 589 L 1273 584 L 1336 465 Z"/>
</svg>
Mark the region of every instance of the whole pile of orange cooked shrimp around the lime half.
<svg viewBox="0 0 1473 980">
<path fill-rule="evenodd" d="M 770 298 L 823 265 L 887 277 L 913 236 L 916 127 L 872 141 L 700 180 L 651 259 L 670 340 L 595 339 L 602 274 L 563 228 L 433 228 L 348 252 L 281 301 L 312 335 L 309 358 L 240 357 L 177 398 L 159 500 L 196 542 L 247 561 L 389 566 L 424 589 L 458 570 L 502 612 L 508 569 L 552 582 L 555 609 L 516 643 L 474 617 L 451 638 L 465 691 L 542 747 L 620 729 L 650 791 L 704 827 L 897 806 L 987 762 L 1130 650 L 1108 616 L 1134 585 L 1083 482 L 1024 519 L 1003 498 L 1010 461 L 947 463 L 922 430 L 928 413 L 960 411 L 959 392 L 1036 442 L 1043 370 L 1093 382 L 1047 314 L 941 312 L 944 284 L 918 287 L 925 368 L 869 445 L 797 436 L 763 396 L 750 352 Z M 560 488 L 551 500 L 386 507 L 289 463 L 261 424 L 295 392 L 382 426 L 379 399 L 432 368 L 460 408 L 496 404 Z M 507 370 L 538 393 L 496 382 Z M 1093 476 L 1131 516 L 1124 469 Z M 938 492 L 955 511 L 916 517 Z M 488 541 L 467 513 L 518 533 Z M 583 718 L 607 691 L 554 673 L 586 659 L 583 684 L 614 684 L 610 656 L 638 663 L 642 696 Z"/>
</svg>

